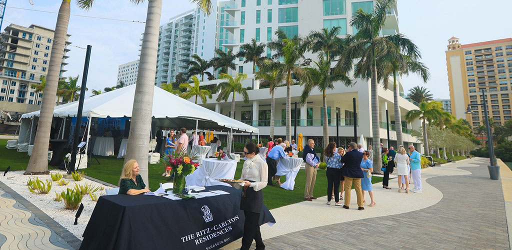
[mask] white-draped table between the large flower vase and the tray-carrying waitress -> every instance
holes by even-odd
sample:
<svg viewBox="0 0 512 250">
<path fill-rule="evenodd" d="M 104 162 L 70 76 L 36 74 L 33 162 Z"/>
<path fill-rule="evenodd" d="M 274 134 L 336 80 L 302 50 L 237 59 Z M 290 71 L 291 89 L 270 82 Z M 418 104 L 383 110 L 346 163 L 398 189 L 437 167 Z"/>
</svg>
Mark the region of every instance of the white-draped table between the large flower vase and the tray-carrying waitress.
<svg viewBox="0 0 512 250">
<path fill-rule="evenodd" d="M 231 186 L 216 179 L 233 179 L 234 172 L 236 171 L 237 161 L 235 160 L 217 160 L 216 158 L 203 159 L 203 165 L 191 175 L 185 176 L 185 180 L 187 186 Z"/>
</svg>

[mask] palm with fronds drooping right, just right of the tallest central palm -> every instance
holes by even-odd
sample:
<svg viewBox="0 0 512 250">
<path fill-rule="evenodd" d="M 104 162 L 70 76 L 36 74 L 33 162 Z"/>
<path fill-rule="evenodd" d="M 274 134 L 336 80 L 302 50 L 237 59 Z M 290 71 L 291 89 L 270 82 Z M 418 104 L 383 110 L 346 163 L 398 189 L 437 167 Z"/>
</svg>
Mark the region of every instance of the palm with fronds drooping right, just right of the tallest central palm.
<svg viewBox="0 0 512 250">
<path fill-rule="evenodd" d="M 391 53 L 382 55 L 381 60 L 385 63 L 385 75 L 393 76 L 393 106 L 395 111 L 395 129 L 396 129 L 396 144 L 403 145 L 403 135 L 402 135 L 402 117 L 400 114 L 400 106 L 398 102 L 398 96 L 400 90 L 398 89 L 398 84 L 396 82 L 396 75 L 398 73 L 409 75 L 409 73 L 418 74 L 423 82 L 430 78 L 429 69 L 417 59 L 408 55 L 403 55 L 400 51 L 390 51 Z M 394 52 L 394 53 L 393 53 Z M 387 80 L 385 80 L 387 82 Z"/>
</svg>

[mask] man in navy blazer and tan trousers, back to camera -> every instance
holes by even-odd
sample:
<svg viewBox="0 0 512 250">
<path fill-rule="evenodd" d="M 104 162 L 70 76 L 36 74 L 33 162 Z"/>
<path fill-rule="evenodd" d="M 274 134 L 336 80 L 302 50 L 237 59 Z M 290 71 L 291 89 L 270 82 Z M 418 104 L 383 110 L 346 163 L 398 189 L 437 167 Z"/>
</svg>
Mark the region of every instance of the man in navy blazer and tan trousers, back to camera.
<svg viewBox="0 0 512 250">
<path fill-rule="evenodd" d="M 361 178 L 365 177 L 365 174 L 361 170 L 362 153 L 357 151 L 357 144 L 350 142 L 348 151 L 343 157 L 342 162 L 342 175 L 345 177 L 345 205 L 344 209 L 349 209 L 350 205 L 350 191 L 352 184 L 354 184 L 355 193 L 357 195 L 357 206 L 358 210 L 365 210 L 362 206 L 362 190 L 361 190 Z"/>
</svg>

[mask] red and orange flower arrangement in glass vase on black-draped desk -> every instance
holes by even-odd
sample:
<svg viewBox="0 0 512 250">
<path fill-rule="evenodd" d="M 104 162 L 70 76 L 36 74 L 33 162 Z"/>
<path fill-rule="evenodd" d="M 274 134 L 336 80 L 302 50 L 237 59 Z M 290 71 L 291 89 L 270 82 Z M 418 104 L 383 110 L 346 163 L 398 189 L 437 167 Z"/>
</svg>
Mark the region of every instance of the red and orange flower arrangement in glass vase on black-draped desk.
<svg viewBox="0 0 512 250">
<path fill-rule="evenodd" d="M 183 153 L 174 152 L 167 156 L 167 169 L 174 174 L 173 193 L 182 193 L 185 189 L 185 176 L 194 173 L 199 166 L 198 162 L 194 162 L 195 156 L 189 156 Z"/>
</svg>

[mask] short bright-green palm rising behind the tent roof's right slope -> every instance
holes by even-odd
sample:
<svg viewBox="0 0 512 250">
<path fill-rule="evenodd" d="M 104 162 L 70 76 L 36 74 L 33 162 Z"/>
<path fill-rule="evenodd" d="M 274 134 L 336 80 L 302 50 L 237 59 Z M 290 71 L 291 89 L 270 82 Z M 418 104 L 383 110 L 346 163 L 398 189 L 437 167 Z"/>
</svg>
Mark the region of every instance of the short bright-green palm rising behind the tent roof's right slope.
<svg viewBox="0 0 512 250">
<path fill-rule="evenodd" d="M 244 102 L 249 102 L 249 95 L 247 94 L 247 90 L 242 87 L 242 81 L 247 79 L 247 75 L 244 73 L 239 73 L 237 77 L 233 79 L 232 76 L 228 74 L 221 73 L 220 79 L 224 81 L 221 82 L 216 87 L 216 91 L 220 90 L 219 96 L 217 96 L 217 101 L 227 101 L 229 99 L 229 95 L 233 93 L 233 98 L 231 99 L 231 119 L 234 119 L 234 95 L 239 93 L 244 98 Z"/>
</svg>

